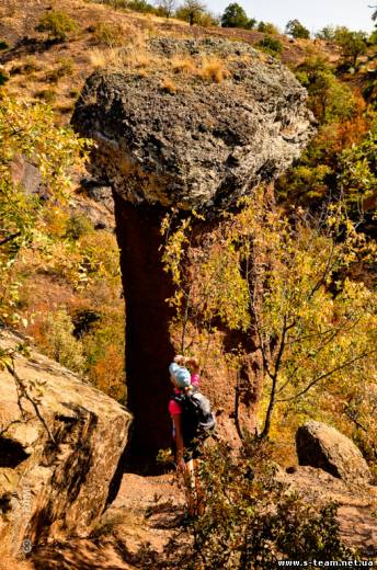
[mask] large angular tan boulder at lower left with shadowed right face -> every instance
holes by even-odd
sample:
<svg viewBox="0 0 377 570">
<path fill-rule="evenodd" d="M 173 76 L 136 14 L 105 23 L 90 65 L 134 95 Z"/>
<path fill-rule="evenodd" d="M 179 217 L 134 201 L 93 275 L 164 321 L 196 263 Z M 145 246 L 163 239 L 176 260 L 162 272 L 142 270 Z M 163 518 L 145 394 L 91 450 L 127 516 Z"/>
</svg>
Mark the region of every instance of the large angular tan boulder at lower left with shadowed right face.
<svg viewBox="0 0 377 570">
<path fill-rule="evenodd" d="M 20 341 L 2 332 L 0 347 Z M 0 537 L 27 552 L 90 534 L 116 485 L 130 414 L 39 354 L 18 356 L 15 374 L 0 372 Z"/>
</svg>

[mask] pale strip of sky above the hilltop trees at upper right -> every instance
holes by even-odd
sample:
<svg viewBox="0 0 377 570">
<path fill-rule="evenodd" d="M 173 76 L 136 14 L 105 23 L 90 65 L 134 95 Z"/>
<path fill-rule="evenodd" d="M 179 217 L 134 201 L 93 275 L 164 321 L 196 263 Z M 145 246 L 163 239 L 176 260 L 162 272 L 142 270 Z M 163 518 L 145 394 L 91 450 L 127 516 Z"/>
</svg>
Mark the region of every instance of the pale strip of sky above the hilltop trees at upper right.
<svg viewBox="0 0 377 570">
<path fill-rule="evenodd" d="M 310 32 L 329 24 L 372 32 L 373 9 L 368 4 L 377 4 L 377 0 L 207 0 L 206 4 L 216 14 L 221 14 L 233 1 L 242 5 L 248 16 L 272 22 L 282 31 L 289 20 L 297 19 Z"/>
</svg>

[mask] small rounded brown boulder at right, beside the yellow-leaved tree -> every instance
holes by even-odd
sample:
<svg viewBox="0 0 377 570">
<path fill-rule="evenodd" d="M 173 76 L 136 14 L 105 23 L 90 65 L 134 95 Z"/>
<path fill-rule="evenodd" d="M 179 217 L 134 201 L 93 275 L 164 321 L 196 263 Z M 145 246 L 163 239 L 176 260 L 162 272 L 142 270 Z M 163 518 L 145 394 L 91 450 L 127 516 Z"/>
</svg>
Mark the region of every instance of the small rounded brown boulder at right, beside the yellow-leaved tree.
<svg viewBox="0 0 377 570">
<path fill-rule="evenodd" d="M 299 465 L 323 469 L 350 482 L 367 482 L 372 478 L 356 445 L 325 423 L 311 420 L 298 428 L 296 447 Z"/>
</svg>

